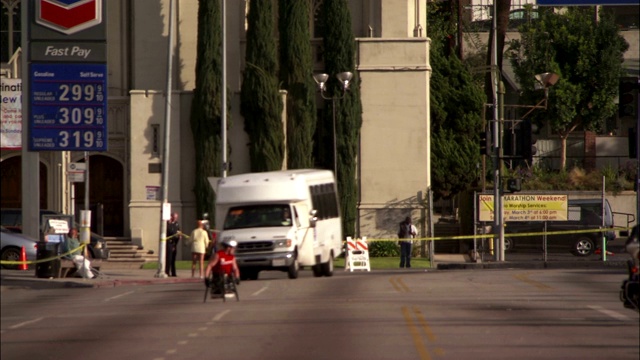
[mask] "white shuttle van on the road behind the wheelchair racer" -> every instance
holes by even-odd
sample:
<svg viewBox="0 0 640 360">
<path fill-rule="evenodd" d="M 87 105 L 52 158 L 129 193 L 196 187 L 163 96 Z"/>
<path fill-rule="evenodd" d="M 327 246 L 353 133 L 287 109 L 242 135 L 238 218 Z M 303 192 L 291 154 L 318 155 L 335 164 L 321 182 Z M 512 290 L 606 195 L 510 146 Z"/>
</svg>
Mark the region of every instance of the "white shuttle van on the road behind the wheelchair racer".
<svg viewBox="0 0 640 360">
<path fill-rule="evenodd" d="M 238 242 L 242 279 L 255 280 L 261 270 L 286 271 L 295 279 L 303 267 L 317 277 L 333 275 L 342 223 L 331 171 L 229 176 L 218 180 L 216 198 L 218 239 Z"/>
</svg>

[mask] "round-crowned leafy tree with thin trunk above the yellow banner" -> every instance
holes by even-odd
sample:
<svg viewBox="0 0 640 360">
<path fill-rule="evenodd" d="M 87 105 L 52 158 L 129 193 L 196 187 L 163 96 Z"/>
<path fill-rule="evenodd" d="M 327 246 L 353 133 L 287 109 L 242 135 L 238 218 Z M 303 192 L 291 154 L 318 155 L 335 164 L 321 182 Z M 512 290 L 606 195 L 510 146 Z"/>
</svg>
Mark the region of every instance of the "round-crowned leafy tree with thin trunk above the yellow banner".
<svg viewBox="0 0 640 360">
<path fill-rule="evenodd" d="M 510 47 L 522 99 L 536 103 L 534 75 L 555 72 L 558 82 L 549 89 L 546 111 L 532 113 L 560 137 L 561 168 L 566 169 L 567 137 L 574 130 L 597 131 L 614 116 L 623 54 L 629 47 L 613 17 L 595 8 L 570 7 L 563 14 L 543 11 L 539 21 L 521 28 L 521 40 Z"/>
</svg>

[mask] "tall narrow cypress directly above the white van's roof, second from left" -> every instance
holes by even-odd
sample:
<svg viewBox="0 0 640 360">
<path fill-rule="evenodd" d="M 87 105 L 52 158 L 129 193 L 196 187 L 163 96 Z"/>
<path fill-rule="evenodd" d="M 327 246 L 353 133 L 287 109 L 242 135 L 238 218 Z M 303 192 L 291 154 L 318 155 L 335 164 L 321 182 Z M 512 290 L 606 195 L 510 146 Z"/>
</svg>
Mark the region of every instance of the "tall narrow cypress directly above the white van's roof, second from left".
<svg viewBox="0 0 640 360">
<path fill-rule="evenodd" d="M 284 159 L 274 15 L 272 1 L 249 3 L 240 113 L 244 118 L 244 130 L 249 135 L 253 172 L 280 170 Z"/>
</svg>

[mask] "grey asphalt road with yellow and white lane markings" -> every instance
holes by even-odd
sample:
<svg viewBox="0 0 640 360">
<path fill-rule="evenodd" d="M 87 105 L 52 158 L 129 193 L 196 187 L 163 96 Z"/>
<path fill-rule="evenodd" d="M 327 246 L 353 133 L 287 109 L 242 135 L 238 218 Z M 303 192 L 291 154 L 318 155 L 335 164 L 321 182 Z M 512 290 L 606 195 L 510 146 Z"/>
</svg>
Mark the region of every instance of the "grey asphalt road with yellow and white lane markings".
<svg viewBox="0 0 640 360">
<path fill-rule="evenodd" d="M 6 359 L 634 359 L 624 269 L 374 271 L 243 282 L 11 289 Z"/>
</svg>

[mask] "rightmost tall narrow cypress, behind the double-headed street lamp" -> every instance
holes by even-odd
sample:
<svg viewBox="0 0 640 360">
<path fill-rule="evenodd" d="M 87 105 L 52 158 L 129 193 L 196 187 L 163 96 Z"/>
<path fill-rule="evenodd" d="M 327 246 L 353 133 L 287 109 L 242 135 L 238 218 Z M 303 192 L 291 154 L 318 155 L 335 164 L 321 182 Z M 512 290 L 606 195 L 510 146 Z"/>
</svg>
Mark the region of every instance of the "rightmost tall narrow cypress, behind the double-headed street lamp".
<svg viewBox="0 0 640 360">
<path fill-rule="evenodd" d="M 341 87 L 335 75 L 344 71 L 353 73 L 352 83 L 344 98 L 336 100 L 336 136 L 338 156 L 338 192 L 342 210 L 344 236 L 355 236 L 357 213 L 356 161 L 358 139 L 362 127 L 360 80 L 355 71 L 356 43 L 351 31 L 351 13 L 345 0 L 324 0 L 324 67 L 330 78 L 329 94 L 340 94 Z M 330 106 L 325 107 L 330 109 Z M 325 111 L 323 126 L 332 126 L 331 111 Z M 331 127 L 329 127 L 331 129 Z M 329 145 L 330 148 L 332 145 Z"/>
</svg>

